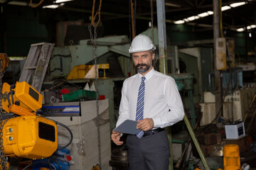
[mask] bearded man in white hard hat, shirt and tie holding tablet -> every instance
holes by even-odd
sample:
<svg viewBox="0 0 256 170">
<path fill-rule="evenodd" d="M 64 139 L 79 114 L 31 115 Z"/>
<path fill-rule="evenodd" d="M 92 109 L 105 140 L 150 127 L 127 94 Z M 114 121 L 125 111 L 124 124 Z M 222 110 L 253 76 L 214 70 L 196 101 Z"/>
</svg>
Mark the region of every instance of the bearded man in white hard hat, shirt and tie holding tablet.
<svg viewBox="0 0 256 170">
<path fill-rule="evenodd" d="M 183 119 L 183 103 L 173 78 L 152 67 L 156 47 L 146 35 L 132 40 L 132 53 L 138 74 L 124 81 L 117 126 L 124 120 L 138 120 L 136 135 L 127 136 L 129 168 L 166 170 L 169 167 L 169 140 L 165 127 Z M 116 145 L 122 145 L 121 133 L 112 132 Z"/>
</svg>

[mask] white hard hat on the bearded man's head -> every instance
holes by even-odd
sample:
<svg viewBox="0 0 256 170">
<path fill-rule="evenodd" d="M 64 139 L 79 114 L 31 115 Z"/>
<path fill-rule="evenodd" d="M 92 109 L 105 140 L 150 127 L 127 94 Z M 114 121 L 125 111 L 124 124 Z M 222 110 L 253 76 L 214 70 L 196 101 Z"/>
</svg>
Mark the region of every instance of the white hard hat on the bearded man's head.
<svg viewBox="0 0 256 170">
<path fill-rule="evenodd" d="M 149 50 L 156 50 L 156 46 L 152 43 L 151 39 L 143 34 L 137 35 L 132 40 L 132 45 L 129 47 L 129 53 L 144 52 Z"/>
</svg>

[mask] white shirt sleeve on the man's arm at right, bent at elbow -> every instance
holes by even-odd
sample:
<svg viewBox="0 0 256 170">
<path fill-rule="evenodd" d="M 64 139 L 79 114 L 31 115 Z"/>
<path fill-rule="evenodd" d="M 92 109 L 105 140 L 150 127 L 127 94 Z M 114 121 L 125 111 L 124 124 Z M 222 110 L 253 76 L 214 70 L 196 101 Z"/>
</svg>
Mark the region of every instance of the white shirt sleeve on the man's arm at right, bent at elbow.
<svg viewBox="0 0 256 170">
<path fill-rule="evenodd" d="M 178 87 L 175 80 L 171 77 L 165 81 L 164 97 L 166 99 L 169 111 L 153 118 L 154 128 L 165 128 L 167 126 L 174 125 L 174 123 L 183 120 L 184 117 L 181 96 L 178 93 Z"/>
</svg>

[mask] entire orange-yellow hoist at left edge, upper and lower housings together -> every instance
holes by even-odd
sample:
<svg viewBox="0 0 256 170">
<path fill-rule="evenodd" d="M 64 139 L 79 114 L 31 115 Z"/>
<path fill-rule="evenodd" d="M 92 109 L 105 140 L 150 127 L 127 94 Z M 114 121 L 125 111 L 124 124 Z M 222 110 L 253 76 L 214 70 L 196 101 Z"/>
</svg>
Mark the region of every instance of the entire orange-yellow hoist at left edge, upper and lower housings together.
<svg viewBox="0 0 256 170">
<path fill-rule="evenodd" d="M 9 64 L 6 54 L 0 54 L 0 62 L 3 72 Z M 50 157 L 58 148 L 58 131 L 53 120 L 36 115 L 43 96 L 25 81 L 4 83 L 1 90 L 1 169 L 6 169 L 5 157 Z"/>
</svg>

